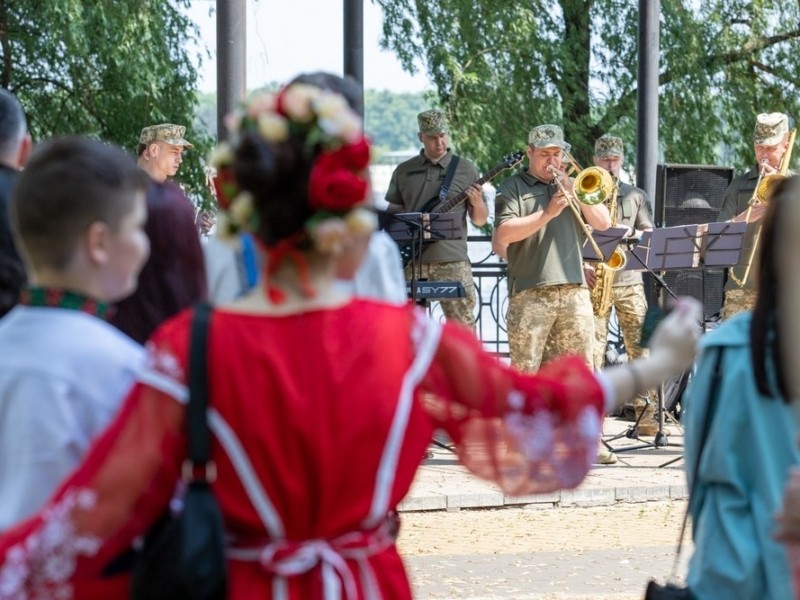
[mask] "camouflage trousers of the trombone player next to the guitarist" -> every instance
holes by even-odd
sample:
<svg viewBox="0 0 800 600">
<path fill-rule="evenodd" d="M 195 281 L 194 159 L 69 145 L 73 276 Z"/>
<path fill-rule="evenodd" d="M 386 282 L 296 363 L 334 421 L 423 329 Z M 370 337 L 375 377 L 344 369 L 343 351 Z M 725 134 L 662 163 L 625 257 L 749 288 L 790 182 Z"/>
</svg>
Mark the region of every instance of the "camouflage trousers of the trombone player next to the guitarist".
<svg viewBox="0 0 800 600">
<path fill-rule="evenodd" d="M 506 313 L 511 364 L 537 371 L 565 354 L 592 366 L 594 317 L 589 290 L 578 284 L 523 290 L 508 300 Z"/>
</svg>

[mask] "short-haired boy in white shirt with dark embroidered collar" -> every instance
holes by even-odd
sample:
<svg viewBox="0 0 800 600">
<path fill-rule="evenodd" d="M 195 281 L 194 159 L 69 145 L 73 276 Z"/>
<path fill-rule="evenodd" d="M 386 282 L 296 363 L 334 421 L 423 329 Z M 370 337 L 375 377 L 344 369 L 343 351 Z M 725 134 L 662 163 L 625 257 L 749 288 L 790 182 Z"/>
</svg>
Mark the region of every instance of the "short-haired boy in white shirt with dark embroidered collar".
<svg viewBox="0 0 800 600">
<path fill-rule="evenodd" d="M 0 321 L 0 531 L 37 511 L 134 380 L 141 346 L 107 324 L 148 253 L 147 176 L 125 152 L 42 144 L 11 203 L 29 288 Z"/>
</svg>

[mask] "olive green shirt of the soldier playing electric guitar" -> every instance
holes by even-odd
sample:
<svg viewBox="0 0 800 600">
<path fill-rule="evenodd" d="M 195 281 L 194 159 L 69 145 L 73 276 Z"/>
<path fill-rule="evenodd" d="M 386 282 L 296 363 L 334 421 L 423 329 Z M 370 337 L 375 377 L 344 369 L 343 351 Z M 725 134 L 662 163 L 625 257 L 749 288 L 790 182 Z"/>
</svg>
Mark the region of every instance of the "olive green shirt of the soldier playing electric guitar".
<svg viewBox="0 0 800 600">
<path fill-rule="evenodd" d="M 403 212 L 421 212 L 422 207 L 431 198 L 439 195 L 447 166 L 452 158 L 453 152 L 448 149 L 447 154 L 439 162 L 434 163 L 428 160 L 424 151 L 420 150 L 420 153 L 414 158 L 400 163 L 392 173 L 389 189 L 386 192 L 386 201 L 389 204 L 400 205 Z M 467 159 L 459 157 L 445 201 L 455 198 L 475 183 L 478 177 L 478 169 L 475 168 L 475 165 Z M 462 238 L 425 244 L 422 250 L 423 263 L 469 260 L 467 256 L 467 201 L 465 200 L 451 212 L 461 214 Z"/>
</svg>

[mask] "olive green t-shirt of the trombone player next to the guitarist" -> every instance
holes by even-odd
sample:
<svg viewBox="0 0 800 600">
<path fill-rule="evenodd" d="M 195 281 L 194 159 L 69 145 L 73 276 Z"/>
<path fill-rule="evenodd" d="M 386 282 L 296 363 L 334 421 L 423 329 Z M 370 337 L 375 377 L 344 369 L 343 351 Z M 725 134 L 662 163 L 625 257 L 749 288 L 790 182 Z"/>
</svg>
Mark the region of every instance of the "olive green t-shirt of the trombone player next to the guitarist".
<svg viewBox="0 0 800 600">
<path fill-rule="evenodd" d="M 498 187 L 495 225 L 544 210 L 556 191 L 554 185 L 518 171 Z M 584 237 L 575 213 L 567 207 L 533 235 L 509 244 L 509 295 L 550 285 L 586 285 L 581 257 Z"/>
</svg>

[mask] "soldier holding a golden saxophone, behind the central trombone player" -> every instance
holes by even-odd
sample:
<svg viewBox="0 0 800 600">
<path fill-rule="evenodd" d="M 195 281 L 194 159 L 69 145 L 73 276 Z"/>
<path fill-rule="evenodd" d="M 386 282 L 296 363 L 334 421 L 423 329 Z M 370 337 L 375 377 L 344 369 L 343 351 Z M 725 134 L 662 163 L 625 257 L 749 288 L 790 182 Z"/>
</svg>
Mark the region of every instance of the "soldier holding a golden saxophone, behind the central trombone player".
<svg viewBox="0 0 800 600">
<path fill-rule="evenodd" d="M 619 174 L 625 160 L 625 151 L 622 139 L 610 135 L 598 138 L 594 144 L 594 164 L 608 171 L 617 185 L 616 196 L 606 200 L 609 208 L 611 223 L 615 227 L 627 227 L 628 238 L 641 237 L 642 231 L 653 228 L 653 214 L 650 203 L 644 190 L 620 181 Z M 614 206 L 612 206 L 614 205 Z M 628 358 L 637 359 L 646 351 L 639 345 L 641 339 L 644 316 L 647 312 L 647 298 L 644 293 L 642 275 L 638 271 L 605 270 L 601 275 L 605 281 L 597 281 L 597 271 L 593 263 L 583 266 L 584 277 L 592 293 L 592 309 L 594 310 L 595 345 L 594 368 L 603 368 L 605 361 L 606 344 L 608 340 L 608 318 L 613 307 L 617 312 L 622 339 Z M 595 286 L 608 286 L 610 289 L 601 296 L 608 301 L 595 301 L 597 294 Z M 599 289 L 599 288 L 598 288 Z M 642 398 L 635 398 L 631 405 L 634 418 L 644 412 L 639 420 L 639 434 L 655 435 L 658 423 L 653 418 L 655 415 L 655 395 L 647 392 L 651 402 L 648 404 Z M 626 411 L 623 411 L 623 416 Z"/>
</svg>

